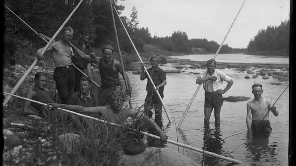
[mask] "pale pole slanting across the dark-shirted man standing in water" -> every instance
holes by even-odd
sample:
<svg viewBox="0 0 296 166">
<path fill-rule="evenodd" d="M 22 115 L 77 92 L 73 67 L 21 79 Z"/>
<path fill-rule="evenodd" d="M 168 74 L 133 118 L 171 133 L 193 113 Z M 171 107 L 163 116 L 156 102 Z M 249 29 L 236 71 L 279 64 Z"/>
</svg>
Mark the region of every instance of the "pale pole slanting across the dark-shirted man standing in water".
<svg viewBox="0 0 296 166">
<path fill-rule="evenodd" d="M 115 7 L 114 7 L 114 8 L 115 8 Z M 115 11 L 116 11 L 116 10 L 115 10 Z M 117 11 L 116 11 L 116 14 L 117 14 L 117 16 L 119 17 L 119 20 L 120 20 L 120 22 L 121 22 L 121 24 L 122 24 L 122 26 L 123 26 L 123 28 L 124 28 L 126 34 L 127 34 L 127 37 L 128 37 L 128 38 L 130 39 L 130 41 L 131 41 L 131 43 L 132 43 L 132 45 L 133 45 L 133 47 L 134 47 L 134 49 L 135 49 L 135 51 L 136 51 L 136 53 L 137 53 L 137 55 L 138 55 L 140 61 L 141 61 L 141 64 L 143 64 L 143 61 L 142 61 L 142 59 L 141 59 L 141 56 L 139 55 L 139 53 L 138 53 L 138 51 L 137 51 L 137 49 L 136 49 L 136 47 L 135 47 L 135 45 L 134 45 L 134 43 L 133 43 L 133 40 L 131 39 L 130 35 L 128 34 L 126 28 L 124 27 L 124 24 L 122 23 L 122 20 L 121 20 L 119 14 L 117 13 Z M 151 84 L 153 85 L 154 90 L 156 90 L 156 87 L 155 87 L 155 85 L 154 85 L 154 82 L 153 82 L 151 76 L 149 75 L 149 73 L 148 73 L 148 71 L 147 71 L 147 69 L 146 69 L 145 66 L 144 66 L 144 70 L 145 70 L 145 72 L 147 73 L 147 77 L 148 77 L 149 80 L 151 81 Z M 156 90 L 156 94 L 158 95 L 158 97 L 159 97 L 159 99 L 160 99 L 160 101 L 161 101 L 161 103 L 162 103 L 163 109 L 164 109 L 164 111 L 165 111 L 165 114 L 167 114 L 167 117 L 168 117 L 168 119 L 169 119 L 169 122 L 171 123 L 171 122 L 172 122 L 172 119 L 171 119 L 170 115 L 168 114 L 167 107 L 165 106 L 165 104 L 164 104 L 164 102 L 163 102 L 163 100 L 162 100 L 162 98 L 161 98 L 161 96 L 160 96 L 158 90 Z"/>
</svg>

